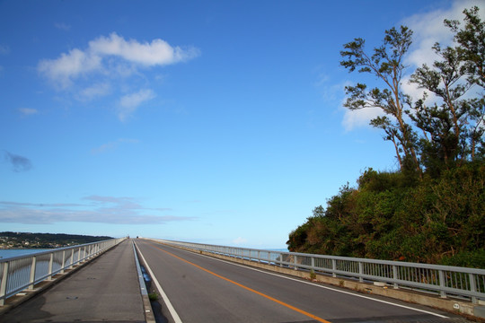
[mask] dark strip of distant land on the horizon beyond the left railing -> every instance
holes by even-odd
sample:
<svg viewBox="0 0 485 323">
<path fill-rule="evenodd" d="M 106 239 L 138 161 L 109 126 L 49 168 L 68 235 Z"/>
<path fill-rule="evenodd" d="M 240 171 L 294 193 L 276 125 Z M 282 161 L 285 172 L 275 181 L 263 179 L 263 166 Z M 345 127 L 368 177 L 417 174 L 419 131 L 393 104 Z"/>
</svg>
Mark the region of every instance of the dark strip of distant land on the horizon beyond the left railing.
<svg viewBox="0 0 485 323">
<path fill-rule="evenodd" d="M 0 249 L 53 249 L 109 240 L 106 236 L 64 233 L 0 232 Z"/>
</svg>

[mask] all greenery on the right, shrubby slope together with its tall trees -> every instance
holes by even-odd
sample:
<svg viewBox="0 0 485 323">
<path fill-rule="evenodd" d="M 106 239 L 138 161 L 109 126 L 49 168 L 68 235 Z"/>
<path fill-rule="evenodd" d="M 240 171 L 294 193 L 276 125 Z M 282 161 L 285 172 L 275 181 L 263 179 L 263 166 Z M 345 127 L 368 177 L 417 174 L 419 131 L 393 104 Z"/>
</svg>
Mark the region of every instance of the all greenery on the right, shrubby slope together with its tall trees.
<svg viewBox="0 0 485 323">
<path fill-rule="evenodd" d="M 445 20 L 455 46 L 436 43 L 437 61 L 411 74 L 410 83 L 425 90 L 419 100 L 401 91 L 407 27 L 385 31 L 372 55 L 364 39 L 344 45 L 340 64 L 382 84 L 347 86 L 344 105 L 382 110 L 371 125 L 393 144 L 400 169 L 368 169 L 357 188 L 340 188 L 290 233 L 288 249 L 485 267 L 485 22 L 478 7 L 463 13 L 462 29 Z"/>
</svg>

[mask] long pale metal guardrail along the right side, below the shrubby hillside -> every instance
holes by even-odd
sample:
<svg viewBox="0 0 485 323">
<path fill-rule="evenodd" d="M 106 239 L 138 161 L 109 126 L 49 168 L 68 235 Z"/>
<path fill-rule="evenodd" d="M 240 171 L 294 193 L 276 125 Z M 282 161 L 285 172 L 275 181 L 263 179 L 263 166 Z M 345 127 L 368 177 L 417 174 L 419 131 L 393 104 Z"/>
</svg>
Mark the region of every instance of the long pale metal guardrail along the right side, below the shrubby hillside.
<svg viewBox="0 0 485 323">
<path fill-rule="evenodd" d="M 435 293 L 442 298 L 454 297 L 473 303 L 485 300 L 484 269 L 246 249 L 171 240 L 155 241 L 269 265 L 287 266 L 295 270 L 307 270 L 320 275 L 355 279 L 361 283 L 380 282 L 395 289 L 408 288 Z"/>
</svg>

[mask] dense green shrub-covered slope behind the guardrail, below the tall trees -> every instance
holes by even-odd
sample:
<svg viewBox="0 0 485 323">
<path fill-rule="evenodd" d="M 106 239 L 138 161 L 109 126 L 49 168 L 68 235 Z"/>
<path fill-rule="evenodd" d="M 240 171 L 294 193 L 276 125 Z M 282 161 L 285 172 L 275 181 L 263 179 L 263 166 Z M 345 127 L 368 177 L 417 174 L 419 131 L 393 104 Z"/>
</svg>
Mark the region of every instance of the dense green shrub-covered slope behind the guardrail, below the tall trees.
<svg viewBox="0 0 485 323">
<path fill-rule="evenodd" d="M 485 163 L 438 179 L 366 170 L 313 209 L 288 249 L 334 256 L 485 268 Z"/>
</svg>

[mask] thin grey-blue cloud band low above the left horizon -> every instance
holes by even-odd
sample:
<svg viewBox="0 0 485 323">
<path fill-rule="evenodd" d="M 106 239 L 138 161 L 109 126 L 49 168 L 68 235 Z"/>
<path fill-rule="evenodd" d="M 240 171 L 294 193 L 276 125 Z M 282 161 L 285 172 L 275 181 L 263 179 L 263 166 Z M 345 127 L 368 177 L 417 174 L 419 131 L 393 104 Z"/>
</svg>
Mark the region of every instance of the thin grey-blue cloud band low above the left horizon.
<svg viewBox="0 0 485 323">
<path fill-rule="evenodd" d="M 167 214 L 171 208 L 146 208 L 133 197 L 85 196 L 86 204 L 0 201 L 0 223 L 163 224 L 195 221 L 196 217 Z"/>
</svg>

